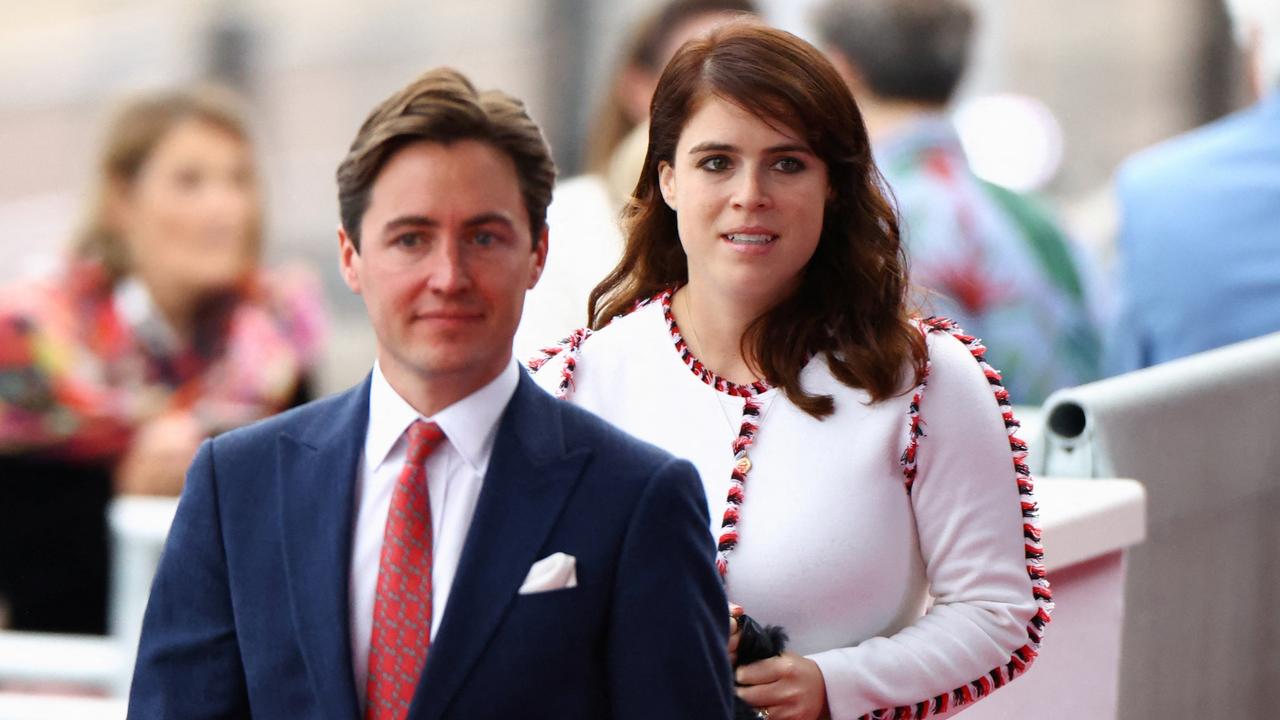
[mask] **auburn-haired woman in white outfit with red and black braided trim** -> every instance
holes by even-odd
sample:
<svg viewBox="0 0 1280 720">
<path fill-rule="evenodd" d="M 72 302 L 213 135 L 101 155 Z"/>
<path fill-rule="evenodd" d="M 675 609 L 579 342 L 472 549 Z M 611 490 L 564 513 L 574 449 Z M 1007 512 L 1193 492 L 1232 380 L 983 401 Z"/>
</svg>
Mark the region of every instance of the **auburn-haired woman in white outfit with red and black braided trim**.
<svg viewBox="0 0 1280 720">
<path fill-rule="evenodd" d="M 626 252 L 545 388 L 694 461 L 731 601 L 790 633 L 762 717 L 942 717 L 1020 675 L 1051 607 L 1000 375 L 913 320 L 897 217 L 831 64 L 732 23 L 654 95 Z"/>
</svg>

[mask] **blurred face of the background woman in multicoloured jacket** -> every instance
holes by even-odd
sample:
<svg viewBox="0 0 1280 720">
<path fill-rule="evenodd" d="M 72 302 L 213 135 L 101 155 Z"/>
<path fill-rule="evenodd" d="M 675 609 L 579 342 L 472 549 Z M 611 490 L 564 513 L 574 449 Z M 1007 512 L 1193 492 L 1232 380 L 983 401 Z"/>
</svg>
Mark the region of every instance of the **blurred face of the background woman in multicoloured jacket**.
<svg viewBox="0 0 1280 720">
<path fill-rule="evenodd" d="M 200 119 L 174 126 L 118 199 L 133 273 L 154 292 L 160 284 L 169 293 L 224 290 L 256 260 L 250 149 L 219 126 Z"/>
</svg>

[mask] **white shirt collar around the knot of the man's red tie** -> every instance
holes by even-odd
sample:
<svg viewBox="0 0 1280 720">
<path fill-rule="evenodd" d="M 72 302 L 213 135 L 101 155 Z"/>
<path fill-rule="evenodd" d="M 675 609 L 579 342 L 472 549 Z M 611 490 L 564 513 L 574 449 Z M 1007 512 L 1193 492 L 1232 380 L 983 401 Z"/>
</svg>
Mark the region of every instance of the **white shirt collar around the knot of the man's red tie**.
<svg viewBox="0 0 1280 720">
<path fill-rule="evenodd" d="M 512 359 L 511 364 L 486 386 L 434 416 L 422 418 L 387 382 L 381 365 L 374 361 L 372 382 L 369 388 L 369 434 L 365 437 L 365 457 L 372 460 L 374 466 L 380 465 L 410 424 L 422 418 L 438 424 L 462 460 L 477 474 L 483 474 L 498 437 L 498 420 L 516 393 L 517 384 L 520 384 L 520 365 Z"/>
</svg>

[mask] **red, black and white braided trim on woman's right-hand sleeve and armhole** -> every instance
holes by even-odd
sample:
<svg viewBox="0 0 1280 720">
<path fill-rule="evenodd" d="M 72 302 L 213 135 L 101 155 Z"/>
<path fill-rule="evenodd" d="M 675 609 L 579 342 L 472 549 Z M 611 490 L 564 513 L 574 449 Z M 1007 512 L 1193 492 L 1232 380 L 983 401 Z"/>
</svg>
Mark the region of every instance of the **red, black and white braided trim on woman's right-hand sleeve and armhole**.
<svg viewBox="0 0 1280 720">
<path fill-rule="evenodd" d="M 1020 425 L 1014 418 L 1014 407 L 1009 401 L 1009 391 L 1005 389 L 1002 384 L 1004 380 L 1000 377 L 1000 372 L 987 364 L 987 348 L 982 345 L 982 341 L 970 334 L 965 334 L 964 331 L 961 331 L 954 322 L 946 318 L 925 318 L 920 320 L 920 332 L 947 333 L 959 340 L 969 354 L 973 355 L 974 360 L 978 361 L 983 374 L 987 377 L 987 382 L 991 384 L 992 393 L 996 396 L 996 402 L 1000 405 L 1000 413 L 1005 420 L 1005 430 L 1009 434 L 1009 450 L 1012 459 L 1014 480 L 1018 483 L 1018 495 L 1021 498 L 1027 575 L 1032 580 L 1032 596 L 1036 600 L 1037 610 L 1036 615 L 1033 615 L 1030 621 L 1027 624 L 1027 644 L 1015 650 L 1009 657 L 1009 661 L 1004 665 L 992 669 L 986 675 L 982 675 L 965 685 L 955 688 L 951 692 L 929 700 L 923 700 L 915 705 L 882 707 L 863 715 L 859 720 L 923 720 L 956 707 L 970 705 L 986 697 L 995 689 L 1004 687 L 1006 683 L 1012 682 L 1014 678 L 1027 671 L 1027 667 L 1030 666 L 1037 655 L 1039 655 L 1041 638 L 1044 634 L 1044 625 L 1050 623 L 1050 615 L 1053 611 L 1053 593 L 1050 589 L 1048 579 L 1044 573 L 1044 547 L 1041 544 L 1041 529 L 1038 521 L 1039 509 L 1036 505 L 1030 468 L 1027 465 L 1027 443 L 1023 442 L 1016 434 Z M 910 434 L 906 450 L 902 452 L 901 459 L 902 478 L 908 495 L 910 495 L 911 486 L 915 482 L 920 438 L 927 437 L 924 433 L 924 420 L 920 418 L 920 400 L 924 397 L 924 388 L 928 382 L 928 369 L 929 368 L 925 366 L 925 378 L 919 386 L 916 386 L 908 410 Z"/>
</svg>

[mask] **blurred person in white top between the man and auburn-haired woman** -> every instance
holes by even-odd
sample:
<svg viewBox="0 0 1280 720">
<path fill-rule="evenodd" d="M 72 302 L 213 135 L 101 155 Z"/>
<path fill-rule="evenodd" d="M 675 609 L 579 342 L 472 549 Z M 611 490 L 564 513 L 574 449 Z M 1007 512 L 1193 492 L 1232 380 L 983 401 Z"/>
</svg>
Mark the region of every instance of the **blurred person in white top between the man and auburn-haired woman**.
<svg viewBox="0 0 1280 720">
<path fill-rule="evenodd" d="M 649 100 L 681 45 L 728 19 L 756 14 L 753 0 L 671 0 L 630 31 L 588 138 L 588 172 L 556 184 L 547 209 L 552 251 L 525 300 L 516 356 L 530 357 L 586 322 L 586 297 L 618 258 L 618 215 L 644 164 Z"/>
</svg>

